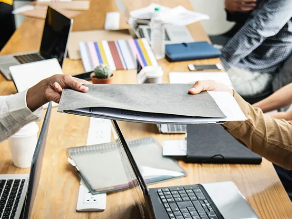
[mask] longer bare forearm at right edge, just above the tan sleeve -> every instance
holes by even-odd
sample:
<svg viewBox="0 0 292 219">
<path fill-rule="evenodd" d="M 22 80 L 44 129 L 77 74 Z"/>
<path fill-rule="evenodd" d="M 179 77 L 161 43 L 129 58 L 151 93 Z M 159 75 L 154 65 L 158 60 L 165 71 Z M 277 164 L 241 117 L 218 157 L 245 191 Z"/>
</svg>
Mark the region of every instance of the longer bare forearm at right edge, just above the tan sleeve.
<svg viewBox="0 0 292 219">
<path fill-rule="evenodd" d="M 269 97 L 254 103 L 252 106 L 259 107 L 264 113 L 279 109 L 292 103 L 292 83 L 282 87 Z"/>
</svg>

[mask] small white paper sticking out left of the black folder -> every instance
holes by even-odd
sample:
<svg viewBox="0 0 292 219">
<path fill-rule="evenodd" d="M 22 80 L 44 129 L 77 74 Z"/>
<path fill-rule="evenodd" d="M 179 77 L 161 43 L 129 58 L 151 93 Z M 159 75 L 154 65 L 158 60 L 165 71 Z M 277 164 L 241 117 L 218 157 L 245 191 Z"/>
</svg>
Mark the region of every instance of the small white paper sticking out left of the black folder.
<svg viewBox="0 0 292 219">
<path fill-rule="evenodd" d="M 163 141 L 163 156 L 187 156 L 186 140 L 169 140 Z"/>
</svg>

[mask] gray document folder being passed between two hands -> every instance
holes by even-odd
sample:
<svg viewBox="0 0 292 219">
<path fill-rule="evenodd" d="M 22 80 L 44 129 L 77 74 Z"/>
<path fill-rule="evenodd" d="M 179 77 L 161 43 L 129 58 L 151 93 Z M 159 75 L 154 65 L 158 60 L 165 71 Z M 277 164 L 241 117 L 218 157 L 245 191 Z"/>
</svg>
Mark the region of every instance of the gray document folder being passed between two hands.
<svg viewBox="0 0 292 219">
<path fill-rule="evenodd" d="M 226 116 L 207 93 L 191 84 L 93 84 L 87 93 L 64 89 L 58 112 L 147 123 L 196 123 Z"/>
</svg>

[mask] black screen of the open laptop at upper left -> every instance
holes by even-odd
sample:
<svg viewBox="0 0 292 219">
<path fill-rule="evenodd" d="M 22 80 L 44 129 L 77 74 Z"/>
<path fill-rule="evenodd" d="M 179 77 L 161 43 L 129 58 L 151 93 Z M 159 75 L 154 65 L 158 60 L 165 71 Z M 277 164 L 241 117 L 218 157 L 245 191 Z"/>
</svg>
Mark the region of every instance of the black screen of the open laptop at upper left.
<svg viewBox="0 0 292 219">
<path fill-rule="evenodd" d="M 45 59 L 58 59 L 62 66 L 72 21 L 48 6 L 40 53 Z"/>
</svg>

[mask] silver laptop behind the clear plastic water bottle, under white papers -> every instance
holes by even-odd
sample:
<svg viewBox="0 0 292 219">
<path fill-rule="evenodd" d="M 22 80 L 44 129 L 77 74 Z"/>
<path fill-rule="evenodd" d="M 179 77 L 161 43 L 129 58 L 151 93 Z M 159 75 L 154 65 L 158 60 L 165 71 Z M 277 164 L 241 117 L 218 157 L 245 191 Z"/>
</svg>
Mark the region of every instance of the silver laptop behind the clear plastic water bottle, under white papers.
<svg viewBox="0 0 292 219">
<path fill-rule="evenodd" d="M 149 25 L 139 25 L 138 31 L 141 38 L 146 38 L 151 42 L 151 29 Z M 165 44 L 194 42 L 194 39 L 186 26 L 169 25 L 165 27 L 165 33 Z"/>
</svg>

